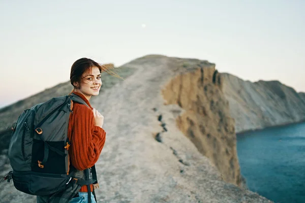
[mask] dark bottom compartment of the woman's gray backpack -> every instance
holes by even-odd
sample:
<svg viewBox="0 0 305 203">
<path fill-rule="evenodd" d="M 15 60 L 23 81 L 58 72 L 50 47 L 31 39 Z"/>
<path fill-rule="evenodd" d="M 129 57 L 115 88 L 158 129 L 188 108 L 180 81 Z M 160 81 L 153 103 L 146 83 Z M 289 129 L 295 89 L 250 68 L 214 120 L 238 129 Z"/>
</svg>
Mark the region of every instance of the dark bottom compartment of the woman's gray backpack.
<svg viewBox="0 0 305 203">
<path fill-rule="evenodd" d="M 17 190 L 32 195 L 51 195 L 66 188 L 70 177 L 67 175 L 34 172 L 14 172 L 13 182 Z"/>
</svg>

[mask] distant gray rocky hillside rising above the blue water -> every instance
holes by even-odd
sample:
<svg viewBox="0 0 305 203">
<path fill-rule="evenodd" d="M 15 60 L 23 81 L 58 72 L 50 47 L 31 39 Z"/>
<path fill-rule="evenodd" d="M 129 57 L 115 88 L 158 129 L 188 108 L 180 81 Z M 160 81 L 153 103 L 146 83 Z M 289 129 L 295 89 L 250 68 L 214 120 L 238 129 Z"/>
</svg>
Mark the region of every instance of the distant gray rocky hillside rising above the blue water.
<svg viewBox="0 0 305 203">
<path fill-rule="evenodd" d="M 243 81 L 222 73 L 235 131 L 261 129 L 304 121 L 305 93 L 279 81 Z"/>
</svg>

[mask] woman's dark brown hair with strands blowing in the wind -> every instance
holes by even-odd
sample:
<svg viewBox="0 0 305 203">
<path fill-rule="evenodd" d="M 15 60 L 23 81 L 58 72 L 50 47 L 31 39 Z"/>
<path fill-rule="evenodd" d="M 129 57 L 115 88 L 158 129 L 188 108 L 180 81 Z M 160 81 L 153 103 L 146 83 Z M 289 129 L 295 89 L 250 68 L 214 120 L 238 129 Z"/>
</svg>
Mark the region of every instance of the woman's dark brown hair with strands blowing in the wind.
<svg viewBox="0 0 305 203">
<path fill-rule="evenodd" d="M 100 70 L 100 73 L 102 72 L 106 72 L 109 75 L 112 75 L 116 78 L 121 78 L 119 77 L 116 73 L 110 71 L 109 69 L 107 69 L 107 67 L 105 67 L 104 65 L 89 59 L 89 58 L 80 58 L 78 60 L 76 60 L 72 66 L 71 66 L 71 72 L 70 72 L 70 82 L 73 85 L 73 87 L 75 89 L 78 89 L 79 86 L 74 86 L 75 82 L 78 82 L 78 84 L 80 84 L 81 82 L 81 76 L 82 74 L 87 71 L 88 69 L 92 68 L 92 67 L 98 67 Z M 73 90 L 72 90 L 73 91 Z"/>
</svg>

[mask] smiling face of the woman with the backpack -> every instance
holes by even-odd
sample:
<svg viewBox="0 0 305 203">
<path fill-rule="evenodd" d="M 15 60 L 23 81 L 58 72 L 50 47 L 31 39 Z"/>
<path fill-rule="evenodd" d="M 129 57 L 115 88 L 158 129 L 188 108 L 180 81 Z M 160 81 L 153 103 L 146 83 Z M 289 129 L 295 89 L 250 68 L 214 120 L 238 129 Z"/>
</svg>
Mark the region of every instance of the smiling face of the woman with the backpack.
<svg viewBox="0 0 305 203">
<path fill-rule="evenodd" d="M 100 70 L 98 67 L 92 67 L 82 74 L 79 89 L 75 91 L 82 93 L 89 100 L 91 96 L 99 95 L 101 86 Z"/>
</svg>

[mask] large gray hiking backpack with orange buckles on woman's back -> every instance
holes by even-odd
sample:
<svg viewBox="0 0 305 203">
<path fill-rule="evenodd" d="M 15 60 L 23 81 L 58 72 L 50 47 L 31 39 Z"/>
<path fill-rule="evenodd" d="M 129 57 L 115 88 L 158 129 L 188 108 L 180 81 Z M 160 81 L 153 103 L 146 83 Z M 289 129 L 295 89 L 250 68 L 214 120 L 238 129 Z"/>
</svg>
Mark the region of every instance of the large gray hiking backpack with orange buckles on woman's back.
<svg viewBox="0 0 305 203">
<path fill-rule="evenodd" d="M 69 117 L 73 113 L 72 100 L 87 106 L 75 94 L 54 97 L 26 109 L 12 125 L 9 159 L 13 171 L 5 179 L 8 182 L 13 179 L 17 190 L 38 196 L 64 195 L 68 201 L 78 192 L 70 190 L 64 194 L 68 187 L 79 189 L 82 185 L 97 183 L 94 180 L 96 173 L 93 178 L 87 175 L 83 179 L 84 176 L 75 177 L 73 172 L 77 170 L 71 164 L 69 168 L 68 149 L 73 143 L 68 140 L 67 133 Z"/>
</svg>

